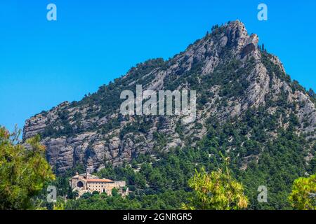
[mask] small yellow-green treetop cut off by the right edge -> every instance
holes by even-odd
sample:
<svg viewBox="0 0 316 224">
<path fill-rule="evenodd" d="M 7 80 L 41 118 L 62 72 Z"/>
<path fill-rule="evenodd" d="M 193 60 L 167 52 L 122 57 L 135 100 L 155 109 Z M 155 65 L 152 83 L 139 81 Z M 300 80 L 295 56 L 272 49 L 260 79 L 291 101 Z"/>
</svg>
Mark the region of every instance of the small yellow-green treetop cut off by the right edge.
<svg viewBox="0 0 316 224">
<path fill-rule="evenodd" d="M 316 210 L 316 174 L 296 179 L 289 201 L 298 210 Z"/>
</svg>

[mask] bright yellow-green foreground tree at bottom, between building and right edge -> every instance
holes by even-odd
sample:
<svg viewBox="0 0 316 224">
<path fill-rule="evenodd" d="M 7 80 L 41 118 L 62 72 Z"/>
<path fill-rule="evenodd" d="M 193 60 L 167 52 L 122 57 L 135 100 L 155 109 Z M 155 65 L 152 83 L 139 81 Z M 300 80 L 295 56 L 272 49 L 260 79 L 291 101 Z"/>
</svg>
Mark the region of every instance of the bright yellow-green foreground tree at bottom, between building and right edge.
<svg viewBox="0 0 316 224">
<path fill-rule="evenodd" d="M 230 176 L 227 167 L 225 171 L 218 169 L 211 174 L 202 168 L 189 180 L 189 186 L 195 195 L 188 204 L 183 204 L 183 209 L 237 210 L 248 205 L 242 184 Z"/>
</svg>

